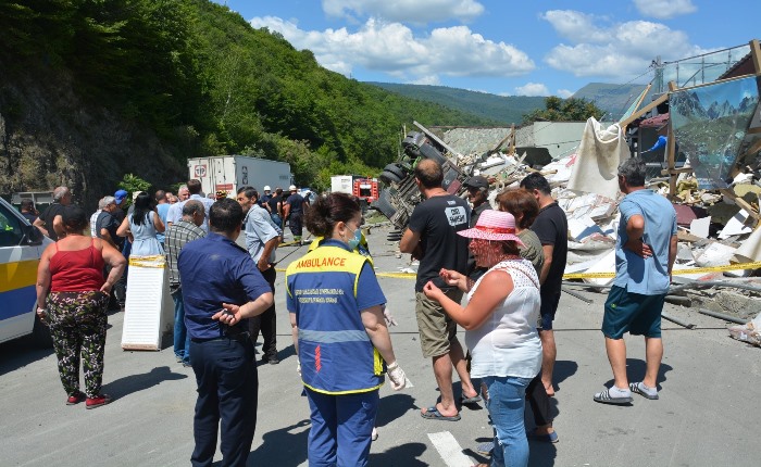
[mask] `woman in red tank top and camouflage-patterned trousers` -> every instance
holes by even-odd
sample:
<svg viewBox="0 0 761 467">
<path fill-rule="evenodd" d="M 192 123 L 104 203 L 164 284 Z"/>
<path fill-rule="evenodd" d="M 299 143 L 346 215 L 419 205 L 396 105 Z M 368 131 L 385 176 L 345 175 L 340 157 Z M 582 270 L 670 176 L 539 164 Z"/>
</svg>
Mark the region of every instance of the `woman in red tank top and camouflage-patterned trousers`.
<svg viewBox="0 0 761 467">
<path fill-rule="evenodd" d="M 109 293 L 126 266 L 116 249 L 84 236 L 89 225 L 76 205 L 63 211 L 64 237 L 48 245 L 37 268 L 37 314 L 48 320 L 58 357 L 59 376 L 67 405 L 86 400 L 87 408 L 111 402 L 101 394 Z M 103 266 L 111 266 L 103 279 Z M 85 392 L 79 390 L 79 356 L 85 369 Z"/>
</svg>

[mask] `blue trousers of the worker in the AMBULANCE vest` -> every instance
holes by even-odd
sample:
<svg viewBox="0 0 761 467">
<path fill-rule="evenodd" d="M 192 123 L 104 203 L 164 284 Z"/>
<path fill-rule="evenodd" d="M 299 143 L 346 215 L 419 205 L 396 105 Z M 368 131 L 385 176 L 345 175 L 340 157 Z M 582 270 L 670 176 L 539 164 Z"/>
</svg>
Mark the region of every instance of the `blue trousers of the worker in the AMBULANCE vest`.
<svg viewBox="0 0 761 467">
<path fill-rule="evenodd" d="M 312 412 L 309 466 L 366 466 L 378 412 L 378 390 L 329 395 L 307 389 L 307 397 Z"/>
</svg>

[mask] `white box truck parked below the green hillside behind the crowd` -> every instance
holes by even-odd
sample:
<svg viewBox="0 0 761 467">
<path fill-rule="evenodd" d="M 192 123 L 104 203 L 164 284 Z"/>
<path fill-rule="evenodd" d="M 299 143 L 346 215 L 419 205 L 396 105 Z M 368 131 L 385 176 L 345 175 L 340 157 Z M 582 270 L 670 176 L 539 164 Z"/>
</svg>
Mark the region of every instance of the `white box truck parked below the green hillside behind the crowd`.
<svg viewBox="0 0 761 467">
<path fill-rule="evenodd" d="M 248 155 L 215 155 L 188 159 L 189 178 L 201 180 L 204 193 L 225 190 L 230 198 L 240 187 L 263 191 L 265 185 L 288 191 L 291 185 L 290 164 Z"/>
</svg>

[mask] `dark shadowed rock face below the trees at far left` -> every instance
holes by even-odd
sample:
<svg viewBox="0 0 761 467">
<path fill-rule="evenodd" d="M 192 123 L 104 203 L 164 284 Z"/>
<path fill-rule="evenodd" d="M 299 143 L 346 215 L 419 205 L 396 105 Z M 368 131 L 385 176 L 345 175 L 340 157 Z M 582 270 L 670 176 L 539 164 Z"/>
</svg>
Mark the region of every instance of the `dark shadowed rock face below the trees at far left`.
<svg viewBox="0 0 761 467">
<path fill-rule="evenodd" d="M 70 76 L 4 73 L 0 62 L 0 194 L 70 187 L 95 210 L 124 174 L 158 187 L 187 177 L 184 162 L 149 129 L 87 104 Z"/>
</svg>

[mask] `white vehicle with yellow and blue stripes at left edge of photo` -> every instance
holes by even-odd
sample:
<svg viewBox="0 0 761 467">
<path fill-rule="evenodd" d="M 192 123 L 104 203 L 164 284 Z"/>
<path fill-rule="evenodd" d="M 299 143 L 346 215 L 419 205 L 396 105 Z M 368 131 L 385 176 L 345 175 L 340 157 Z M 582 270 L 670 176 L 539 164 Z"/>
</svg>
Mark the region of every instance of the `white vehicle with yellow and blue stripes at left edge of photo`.
<svg viewBox="0 0 761 467">
<path fill-rule="evenodd" d="M 49 243 L 0 198 L 0 342 L 28 335 L 41 345 L 50 342 L 48 328 L 35 313 L 37 265 Z"/>
</svg>

